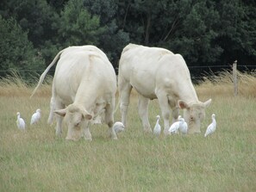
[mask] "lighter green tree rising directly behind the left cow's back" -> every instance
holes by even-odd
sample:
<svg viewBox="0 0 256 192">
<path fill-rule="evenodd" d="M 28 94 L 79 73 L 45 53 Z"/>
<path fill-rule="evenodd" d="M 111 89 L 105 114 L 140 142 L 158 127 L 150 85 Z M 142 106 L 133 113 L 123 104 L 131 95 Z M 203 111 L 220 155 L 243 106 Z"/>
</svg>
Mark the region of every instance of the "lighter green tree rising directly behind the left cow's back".
<svg viewBox="0 0 256 192">
<path fill-rule="evenodd" d="M 61 46 L 98 45 L 98 39 L 105 31 L 100 26 L 98 15 L 84 7 L 83 0 L 70 0 L 60 13 L 59 43 Z"/>
</svg>

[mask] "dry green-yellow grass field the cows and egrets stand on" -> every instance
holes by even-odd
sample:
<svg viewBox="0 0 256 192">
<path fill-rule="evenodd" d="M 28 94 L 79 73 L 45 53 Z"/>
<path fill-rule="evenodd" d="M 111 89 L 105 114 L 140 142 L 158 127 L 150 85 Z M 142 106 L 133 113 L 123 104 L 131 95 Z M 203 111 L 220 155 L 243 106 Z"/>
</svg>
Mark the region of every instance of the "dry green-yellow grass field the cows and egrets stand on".
<svg viewBox="0 0 256 192">
<path fill-rule="evenodd" d="M 213 99 L 201 134 L 144 134 L 134 93 L 128 129 L 111 140 L 107 126 L 93 126 L 91 142 L 66 141 L 66 129 L 62 138 L 55 137 L 47 125 L 50 85 L 29 99 L 32 88 L 19 80 L 2 81 L 0 191 L 256 191 L 256 77 L 240 74 L 239 95 L 233 96 L 226 76 L 196 86 L 201 101 Z M 41 122 L 31 127 L 36 108 Z M 26 131 L 16 128 L 18 111 Z M 152 127 L 159 113 L 158 102 L 150 102 Z M 217 130 L 204 138 L 212 113 Z"/>
</svg>

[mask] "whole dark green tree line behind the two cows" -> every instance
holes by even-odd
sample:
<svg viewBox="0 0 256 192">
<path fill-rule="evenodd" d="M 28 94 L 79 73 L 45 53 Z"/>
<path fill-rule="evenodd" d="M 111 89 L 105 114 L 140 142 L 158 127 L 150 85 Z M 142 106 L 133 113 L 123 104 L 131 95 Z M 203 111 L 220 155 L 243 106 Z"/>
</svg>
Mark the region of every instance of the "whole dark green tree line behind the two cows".
<svg viewBox="0 0 256 192">
<path fill-rule="evenodd" d="M 128 43 L 160 46 L 187 65 L 256 66 L 254 0 L 3 0 L 0 77 L 41 73 L 66 46 L 95 45 L 115 69 Z"/>
</svg>

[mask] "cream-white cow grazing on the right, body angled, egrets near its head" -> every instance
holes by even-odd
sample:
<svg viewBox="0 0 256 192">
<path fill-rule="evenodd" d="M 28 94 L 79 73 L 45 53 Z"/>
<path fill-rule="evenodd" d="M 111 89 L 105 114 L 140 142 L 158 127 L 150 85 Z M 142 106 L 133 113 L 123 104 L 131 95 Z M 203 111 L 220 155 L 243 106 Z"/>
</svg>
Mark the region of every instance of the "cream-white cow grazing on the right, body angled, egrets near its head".
<svg viewBox="0 0 256 192">
<path fill-rule="evenodd" d="M 125 127 L 132 88 L 139 93 L 139 115 L 146 132 L 152 132 L 147 117 L 148 102 L 157 98 L 165 121 L 165 134 L 168 134 L 170 128 L 170 108 L 172 122 L 178 121 L 178 108 L 182 108 L 188 132 L 200 133 L 204 109 L 209 106 L 211 99 L 207 102 L 198 101 L 190 71 L 180 54 L 158 47 L 134 44 L 124 47 L 119 62 L 118 90 Z"/>
</svg>

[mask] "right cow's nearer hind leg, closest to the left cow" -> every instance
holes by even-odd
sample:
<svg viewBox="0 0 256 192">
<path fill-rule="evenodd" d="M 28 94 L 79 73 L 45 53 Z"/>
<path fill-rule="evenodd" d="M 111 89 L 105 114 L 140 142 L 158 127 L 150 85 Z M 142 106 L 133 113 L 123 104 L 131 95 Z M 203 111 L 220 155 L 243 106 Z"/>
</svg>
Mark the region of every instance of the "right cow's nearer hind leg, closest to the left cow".
<svg viewBox="0 0 256 192">
<path fill-rule="evenodd" d="M 125 127 L 127 127 L 128 104 L 132 86 L 122 78 L 118 79 L 118 81 L 122 123 Z"/>
</svg>

